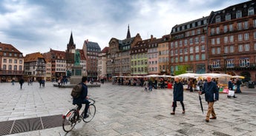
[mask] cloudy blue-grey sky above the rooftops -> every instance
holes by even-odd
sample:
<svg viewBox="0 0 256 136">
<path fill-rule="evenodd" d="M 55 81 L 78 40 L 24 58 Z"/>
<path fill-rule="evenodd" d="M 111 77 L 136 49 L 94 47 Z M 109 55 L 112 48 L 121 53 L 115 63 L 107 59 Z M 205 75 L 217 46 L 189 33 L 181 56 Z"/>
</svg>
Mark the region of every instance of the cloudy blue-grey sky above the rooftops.
<svg viewBox="0 0 256 136">
<path fill-rule="evenodd" d="M 76 49 L 83 42 L 108 47 L 111 38 L 140 33 L 142 40 L 171 33 L 211 11 L 248 0 L 1 0 L 0 42 L 12 44 L 23 55 L 67 49 L 70 33 Z"/>
</svg>

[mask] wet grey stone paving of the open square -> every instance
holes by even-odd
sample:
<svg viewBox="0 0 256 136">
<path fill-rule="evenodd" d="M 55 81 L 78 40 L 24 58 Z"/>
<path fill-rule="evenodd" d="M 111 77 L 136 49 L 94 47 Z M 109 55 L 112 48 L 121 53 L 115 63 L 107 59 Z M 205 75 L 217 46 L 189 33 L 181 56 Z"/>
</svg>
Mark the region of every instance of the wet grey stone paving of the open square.
<svg viewBox="0 0 256 136">
<path fill-rule="evenodd" d="M 0 84 L 0 122 L 65 114 L 72 108 L 70 88 L 53 87 L 46 83 L 39 88 L 24 84 Z M 96 100 L 96 115 L 90 123 L 79 123 L 69 133 L 62 127 L 22 132 L 13 135 L 256 135 L 256 90 L 244 89 L 237 98 L 214 103 L 216 120 L 206 123 L 207 103 L 200 109 L 197 92 L 184 92 L 186 114 L 177 103 L 176 115 L 170 115 L 172 89 L 143 91 L 141 86 L 119 86 L 110 83 L 89 88 Z M 202 95 L 204 100 L 204 95 Z M 1 130 L 0 130 L 1 131 Z"/>
</svg>

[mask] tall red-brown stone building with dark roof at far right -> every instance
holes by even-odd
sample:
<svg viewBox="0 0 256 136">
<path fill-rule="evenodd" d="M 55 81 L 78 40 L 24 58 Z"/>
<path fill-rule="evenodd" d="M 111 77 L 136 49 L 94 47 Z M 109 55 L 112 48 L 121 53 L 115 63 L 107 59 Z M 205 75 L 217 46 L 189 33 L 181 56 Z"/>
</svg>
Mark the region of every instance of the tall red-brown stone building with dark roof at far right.
<svg viewBox="0 0 256 136">
<path fill-rule="evenodd" d="M 256 2 L 211 12 L 208 29 L 209 72 L 256 79 Z"/>
</svg>

